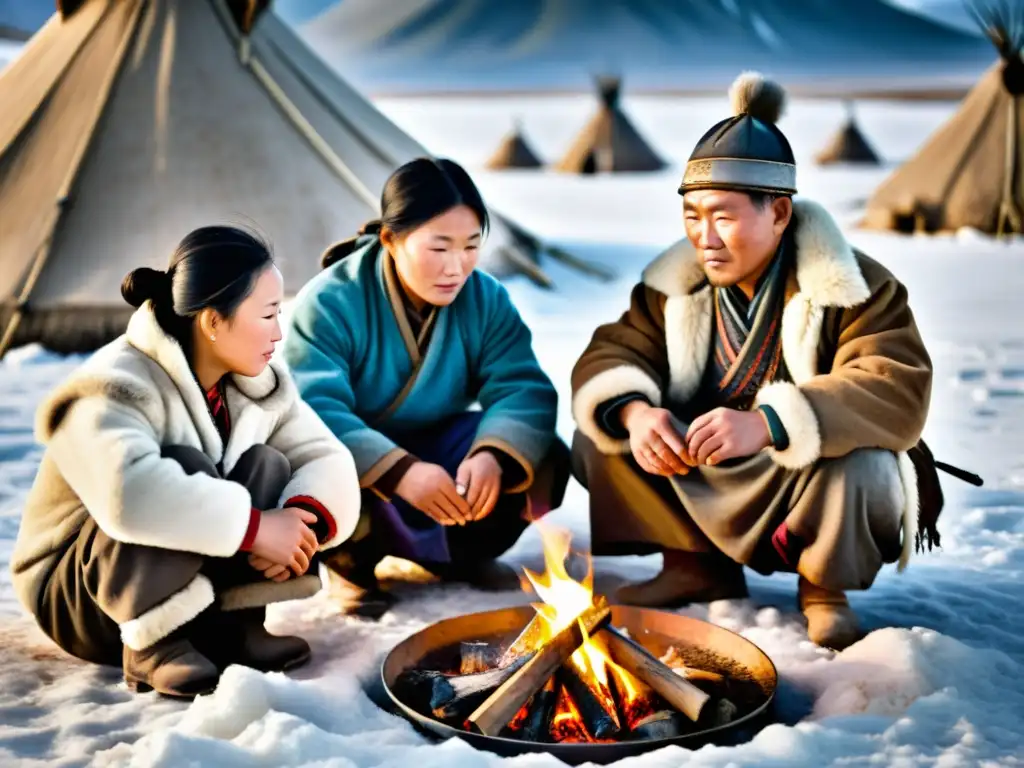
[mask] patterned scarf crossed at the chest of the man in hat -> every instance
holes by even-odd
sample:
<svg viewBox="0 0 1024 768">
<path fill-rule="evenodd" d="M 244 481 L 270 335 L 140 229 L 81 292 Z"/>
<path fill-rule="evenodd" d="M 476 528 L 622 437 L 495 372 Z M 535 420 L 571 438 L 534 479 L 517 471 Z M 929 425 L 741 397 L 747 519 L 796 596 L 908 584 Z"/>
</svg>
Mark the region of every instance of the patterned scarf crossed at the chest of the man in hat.
<svg viewBox="0 0 1024 768">
<path fill-rule="evenodd" d="M 764 383 L 786 376 L 780 330 L 788 251 L 783 239 L 750 301 L 736 286 L 714 289 L 712 366 L 723 406 L 745 410 Z"/>
</svg>

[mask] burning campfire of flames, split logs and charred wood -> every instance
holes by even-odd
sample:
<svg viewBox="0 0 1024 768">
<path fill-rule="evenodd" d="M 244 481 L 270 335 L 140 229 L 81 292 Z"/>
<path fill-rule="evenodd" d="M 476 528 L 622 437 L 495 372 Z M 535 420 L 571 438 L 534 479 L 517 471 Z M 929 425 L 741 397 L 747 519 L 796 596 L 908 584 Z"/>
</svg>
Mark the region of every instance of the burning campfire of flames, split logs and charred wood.
<svg viewBox="0 0 1024 768">
<path fill-rule="evenodd" d="M 545 572 L 525 569 L 540 598 L 525 628 L 502 643 L 481 627 L 433 664 L 402 670 L 399 699 L 467 734 L 549 744 L 677 738 L 764 706 L 764 686 L 742 667 L 685 638 L 655 653 L 615 626 L 589 558 L 580 581 L 567 572 L 568 534 L 544 528 L 543 540 Z"/>
</svg>

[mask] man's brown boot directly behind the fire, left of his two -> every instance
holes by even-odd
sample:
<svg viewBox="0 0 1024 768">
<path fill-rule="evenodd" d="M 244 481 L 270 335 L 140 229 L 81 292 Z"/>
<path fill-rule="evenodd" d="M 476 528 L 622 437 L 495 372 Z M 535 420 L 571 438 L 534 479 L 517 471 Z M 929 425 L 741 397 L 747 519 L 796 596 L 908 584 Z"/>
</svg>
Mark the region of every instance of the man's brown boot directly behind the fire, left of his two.
<svg viewBox="0 0 1024 768">
<path fill-rule="evenodd" d="M 743 566 L 725 555 L 667 550 L 660 573 L 622 587 L 615 592 L 615 600 L 623 605 L 669 608 L 734 600 L 748 594 Z"/>
</svg>

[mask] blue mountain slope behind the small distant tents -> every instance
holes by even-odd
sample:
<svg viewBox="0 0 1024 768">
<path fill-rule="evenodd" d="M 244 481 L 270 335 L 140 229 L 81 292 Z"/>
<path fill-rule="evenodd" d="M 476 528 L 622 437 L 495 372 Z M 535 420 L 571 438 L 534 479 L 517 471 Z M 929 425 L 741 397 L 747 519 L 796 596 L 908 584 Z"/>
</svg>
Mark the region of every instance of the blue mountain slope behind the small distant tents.
<svg viewBox="0 0 1024 768">
<path fill-rule="evenodd" d="M 306 39 L 374 91 L 579 88 L 599 72 L 702 89 L 748 68 L 794 84 L 955 86 L 994 56 L 883 0 L 304 1 L 330 6 L 299 24 Z"/>
</svg>

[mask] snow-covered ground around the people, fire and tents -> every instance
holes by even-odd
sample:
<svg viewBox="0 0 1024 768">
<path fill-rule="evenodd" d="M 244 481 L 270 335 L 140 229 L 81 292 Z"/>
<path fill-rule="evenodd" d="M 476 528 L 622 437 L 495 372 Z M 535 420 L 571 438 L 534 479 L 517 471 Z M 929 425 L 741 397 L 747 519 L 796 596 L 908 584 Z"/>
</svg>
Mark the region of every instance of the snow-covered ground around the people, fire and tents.
<svg viewBox="0 0 1024 768">
<path fill-rule="evenodd" d="M 594 327 L 625 308 L 646 261 L 680 236 L 679 169 L 615 178 L 479 170 L 513 117 L 522 118 L 542 157 L 554 160 L 592 110 L 588 98 L 382 106 L 427 145 L 464 162 L 503 212 L 618 271 L 617 281 L 599 284 L 553 264 L 556 291 L 521 281 L 510 286 L 563 394 L 559 429 L 568 439 L 572 364 Z M 627 109 L 655 146 L 681 163 L 727 108 L 723 97 L 627 99 Z M 878 102 L 859 114 L 868 137 L 896 163 L 953 109 Z M 839 103 L 796 103 L 781 127 L 803 164 L 802 193 L 852 224 L 889 169 L 810 165 L 841 118 Z M 807 641 L 793 577 L 751 574 L 751 600 L 687 609 L 740 632 L 773 658 L 781 722 L 741 746 L 670 748 L 623 766 L 1024 765 L 1024 243 L 849 231 L 909 287 L 936 371 L 926 437 L 941 459 L 980 472 L 986 485 L 944 478 L 942 550 L 918 556 L 903 574 L 887 567 L 871 590 L 851 595 L 873 631 L 843 653 Z M 407 585 L 399 607 L 379 624 L 339 615 L 326 594 L 275 606 L 271 628 L 307 637 L 314 662 L 289 676 L 232 668 L 216 694 L 190 706 L 133 695 L 120 685 L 118 670 L 80 664 L 49 644 L 15 602 L 7 563 L 40 456 L 32 411 L 74 362 L 26 349 L 0 364 L 0 764 L 482 768 L 502 762 L 458 739 L 428 741 L 381 712 L 364 683 L 408 634 L 445 616 L 528 602 L 524 593 Z M 586 547 L 586 497 L 575 483 L 551 519 Z M 537 532 L 527 531 L 507 559 L 540 567 Z M 656 567 L 656 558 L 600 558 L 598 587 Z M 509 762 L 558 765 L 549 756 Z"/>
</svg>

